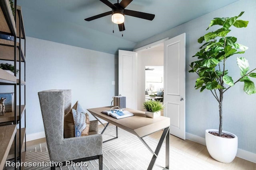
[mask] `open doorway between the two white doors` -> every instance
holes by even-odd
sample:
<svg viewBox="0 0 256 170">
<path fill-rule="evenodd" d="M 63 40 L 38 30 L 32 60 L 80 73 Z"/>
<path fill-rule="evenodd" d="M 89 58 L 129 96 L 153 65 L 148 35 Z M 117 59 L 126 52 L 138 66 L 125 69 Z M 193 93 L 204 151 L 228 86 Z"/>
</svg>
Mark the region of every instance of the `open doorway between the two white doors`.
<svg viewBox="0 0 256 170">
<path fill-rule="evenodd" d="M 146 70 L 146 68 L 153 70 Z M 150 94 L 157 95 L 157 92 L 164 91 L 163 43 L 137 51 L 137 76 L 137 109 L 144 111 L 143 103 L 146 97 L 149 97 Z"/>
</svg>

